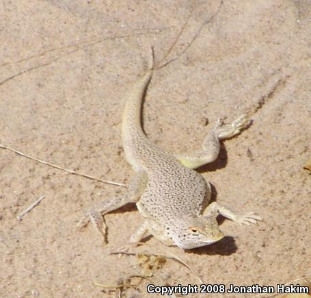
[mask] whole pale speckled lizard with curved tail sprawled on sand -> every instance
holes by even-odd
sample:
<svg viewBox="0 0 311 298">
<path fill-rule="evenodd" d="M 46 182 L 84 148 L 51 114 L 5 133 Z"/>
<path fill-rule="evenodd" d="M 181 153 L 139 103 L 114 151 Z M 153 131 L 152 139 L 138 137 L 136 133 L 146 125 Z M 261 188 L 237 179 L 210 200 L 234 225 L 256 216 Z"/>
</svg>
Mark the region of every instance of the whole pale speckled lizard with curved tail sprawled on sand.
<svg viewBox="0 0 311 298">
<path fill-rule="evenodd" d="M 216 160 L 220 141 L 240 134 L 250 121 L 246 114 L 227 125 L 218 119 L 202 149 L 193 153 L 174 154 L 154 145 L 141 127 L 141 106 L 154 71 L 153 51 L 151 56 L 148 70 L 133 86 L 122 114 L 123 149 L 135 171 L 128 192 L 87 210 L 79 226 L 85 227 L 91 221 L 107 242 L 103 215 L 136 203 L 144 222 L 131 236 L 129 245 L 137 245 L 148 235 L 181 249 L 210 245 L 225 236 L 218 227 L 219 214 L 240 225 L 261 220 L 254 212 L 237 214 L 215 201 L 211 203 L 211 185 L 195 171 Z"/>
</svg>

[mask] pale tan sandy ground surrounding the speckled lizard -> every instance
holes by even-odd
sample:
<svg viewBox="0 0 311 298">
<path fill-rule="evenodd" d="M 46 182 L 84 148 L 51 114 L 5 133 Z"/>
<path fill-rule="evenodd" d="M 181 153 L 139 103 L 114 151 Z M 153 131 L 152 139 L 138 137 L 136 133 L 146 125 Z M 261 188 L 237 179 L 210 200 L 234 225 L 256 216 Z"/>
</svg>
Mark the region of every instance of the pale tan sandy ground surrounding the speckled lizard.
<svg viewBox="0 0 311 298">
<path fill-rule="evenodd" d="M 201 172 L 219 203 L 263 221 L 221 221 L 228 236 L 193 251 L 154 238 L 137 251 L 174 253 L 208 284 L 275 286 L 311 275 L 311 176 L 303 170 L 311 157 L 311 1 L 4 0 L 0 7 L 1 144 L 128 182 L 122 108 L 153 45 L 157 62 L 172 61 L 150 84 L 146 134 L 170 151 L 189 151 L 219 116 L 251 112 L 252 126 Z M 137 258 L 108 253 L 142 222 L 135 207 L 105 216 L 106 247 L 92 226 L 76 229 L 84 210 L 124 188 L 0 153 L 1 297 L 113 297 L 93 283 L 141 273 Z M 152 279 L 199 283 L 174 260 Z M 148 283 L 124 297 L 155 297 Z M 208 297 L 227 296 L 254 295 Z"/>
</svg>

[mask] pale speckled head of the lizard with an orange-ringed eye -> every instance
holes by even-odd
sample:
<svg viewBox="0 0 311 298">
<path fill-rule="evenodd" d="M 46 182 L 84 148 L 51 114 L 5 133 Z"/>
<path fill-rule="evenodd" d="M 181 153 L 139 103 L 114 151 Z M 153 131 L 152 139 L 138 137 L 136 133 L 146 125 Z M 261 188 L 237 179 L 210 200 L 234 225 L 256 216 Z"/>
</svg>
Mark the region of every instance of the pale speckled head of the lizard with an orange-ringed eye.
<svg viewBox="0 0 311 298">
<path fill-rule="evenodd" d="M 219 231 L 215 216 L 188 216 L 180 219 L 178 229 L 172 233 L 174 243 L 182 249 L 194 249 L 215 243 L 224 234 Z"/>
</svg>

